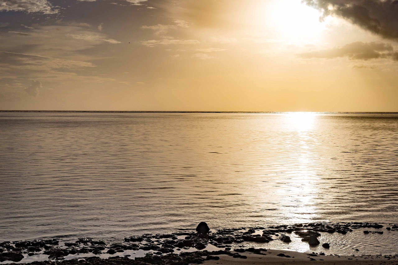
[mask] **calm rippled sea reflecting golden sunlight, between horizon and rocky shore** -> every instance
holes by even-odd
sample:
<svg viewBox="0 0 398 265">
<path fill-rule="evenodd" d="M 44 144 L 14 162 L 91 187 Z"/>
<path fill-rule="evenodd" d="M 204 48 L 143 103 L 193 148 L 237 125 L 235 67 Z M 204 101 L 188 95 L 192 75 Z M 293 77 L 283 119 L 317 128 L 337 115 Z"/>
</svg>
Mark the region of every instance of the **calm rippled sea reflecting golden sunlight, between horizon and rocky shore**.
<svg viewBox="0 0 398 265">
<path fill-rule="evenodd" d="M 0 241 L 398 223 L 398 115 L 0 113 Z"/>
</svg>

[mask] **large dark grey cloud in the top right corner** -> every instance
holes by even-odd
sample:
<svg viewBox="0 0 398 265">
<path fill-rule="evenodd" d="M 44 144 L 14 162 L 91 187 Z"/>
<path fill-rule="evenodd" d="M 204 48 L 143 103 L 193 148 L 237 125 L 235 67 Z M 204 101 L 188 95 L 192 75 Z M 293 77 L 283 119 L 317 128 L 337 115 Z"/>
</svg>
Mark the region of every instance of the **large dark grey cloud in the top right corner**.
<svg viewBox="0 0 398 265">
<path fill-rule="evenodd" d="M 324 16 L 334 15 L 388 39 L 398 39 L 398 0 L 303 0 Z"/>
</svg>

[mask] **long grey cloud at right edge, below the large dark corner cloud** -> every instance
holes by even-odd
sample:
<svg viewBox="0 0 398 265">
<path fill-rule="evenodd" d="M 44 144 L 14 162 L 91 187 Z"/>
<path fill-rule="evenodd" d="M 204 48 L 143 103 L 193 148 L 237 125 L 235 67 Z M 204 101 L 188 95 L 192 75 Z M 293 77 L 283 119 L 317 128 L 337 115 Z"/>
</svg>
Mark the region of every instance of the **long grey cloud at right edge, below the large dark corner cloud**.
<svg viewBox="0 0 398 265">
<path fill-rule="evenodd" d="M 378 58 L 391 58 L 393 60 L 398 60 L 398 52 L 394 51 L 394 48 L 390 43 L 364 43 L 361 41 L 349 43 L 340 47 L 334 47 L 332 49 L 300 53 L 299 56 L 302 58 L 325 59 L 347 57 L 350 60 L 371 60 Z"/>
</svg>

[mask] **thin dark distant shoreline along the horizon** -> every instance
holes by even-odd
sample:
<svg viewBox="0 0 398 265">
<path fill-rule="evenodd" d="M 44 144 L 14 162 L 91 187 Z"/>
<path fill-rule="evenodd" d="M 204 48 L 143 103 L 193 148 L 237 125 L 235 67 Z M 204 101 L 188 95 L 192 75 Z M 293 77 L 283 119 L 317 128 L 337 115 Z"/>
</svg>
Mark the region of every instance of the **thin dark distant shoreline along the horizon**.
<svg viewBox="0 0 398 265">
<path fill-rule="evenodd" d="M 44 112 L 44 113 L 336 113 L 336 114 L 398 114 L 398 111 L 81 111 L 81 110 L 0 110 L 0 112 Z"/>
</svg>

